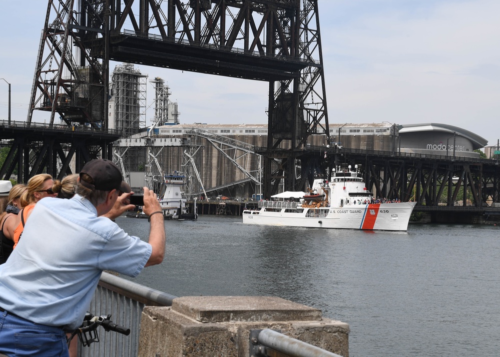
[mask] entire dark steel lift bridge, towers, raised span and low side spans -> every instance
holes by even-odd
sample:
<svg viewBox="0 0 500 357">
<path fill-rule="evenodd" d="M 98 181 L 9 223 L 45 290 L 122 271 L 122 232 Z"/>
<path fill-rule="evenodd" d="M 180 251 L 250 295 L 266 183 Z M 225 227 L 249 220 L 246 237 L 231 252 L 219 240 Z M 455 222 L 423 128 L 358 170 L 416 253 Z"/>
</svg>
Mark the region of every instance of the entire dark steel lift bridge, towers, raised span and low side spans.
<svg viewBox="0 0 500 357">
<path fill-rule="evenodd" d="M 317 133 L 330 142 L 317 0 L 49 0 L 27 121 L 0 124 L 10 147 L 3 178 L 61 177 L 73 159 L 79 170 L 98 155 L 112 157 L 120 135 L 107 129 L 110 61 L 267 81 L 268 141 L 256 150 L 266 197 L 280 182 L 294 190 L 349 162 L 364 164 L 377 195 L 413 198 L 419 207 L 500 201 L 491 160 L 347 148 L 325 155 L 306 145 Z M 36 110 L 50 113 L 43 127 Z"/>
</svg>

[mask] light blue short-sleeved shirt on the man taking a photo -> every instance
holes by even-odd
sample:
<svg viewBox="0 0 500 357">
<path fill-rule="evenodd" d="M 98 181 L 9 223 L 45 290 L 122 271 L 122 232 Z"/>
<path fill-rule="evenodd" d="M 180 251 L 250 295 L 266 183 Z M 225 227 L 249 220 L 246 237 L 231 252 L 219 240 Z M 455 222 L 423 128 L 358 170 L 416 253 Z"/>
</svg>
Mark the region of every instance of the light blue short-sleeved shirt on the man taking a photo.
<svg viewBox="0 0 500 357">
<path fill-rule="evenodd" d="M 128 235 L 82 196 L 47 197 L 0 265 L 0 306 L 36 323 L 81 325 L 103 270 L 137 276 L 152 247 Z"/>
</svg>

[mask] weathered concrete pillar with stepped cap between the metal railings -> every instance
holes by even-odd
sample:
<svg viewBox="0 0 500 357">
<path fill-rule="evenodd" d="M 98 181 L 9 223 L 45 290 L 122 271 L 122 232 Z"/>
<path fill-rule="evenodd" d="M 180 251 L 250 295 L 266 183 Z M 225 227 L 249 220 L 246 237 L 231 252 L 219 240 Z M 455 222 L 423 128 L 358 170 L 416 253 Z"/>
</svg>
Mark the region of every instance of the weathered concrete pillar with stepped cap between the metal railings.
<svg viewBox="0 0 500 357">
<path fill-rule="evenodd" d="M 349 355 L 349 325 L 317 308 L 272 296 L 184 296 L 144 308 L 139 356 L 249 357 L 250 330 L 263 328 Z"/>
</svg>

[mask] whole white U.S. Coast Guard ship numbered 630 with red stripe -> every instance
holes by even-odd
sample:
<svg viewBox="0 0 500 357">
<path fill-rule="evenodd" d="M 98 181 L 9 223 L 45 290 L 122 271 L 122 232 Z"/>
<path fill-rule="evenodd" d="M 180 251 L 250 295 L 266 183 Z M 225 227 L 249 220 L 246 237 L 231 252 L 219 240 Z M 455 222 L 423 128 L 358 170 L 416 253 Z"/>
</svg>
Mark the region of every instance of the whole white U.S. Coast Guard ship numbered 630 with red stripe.
<svg viewBox="0 0 500 357">
<path fill-rule="evenodd" d="M 331 180 L 315 179 L 300 198 L 259 201 L 259 210 L 243 210 L 243 223 L 293 227 L 406 230 L 416 202 L 380 202 L 351 166 L 337 168 Z M 273 197 L 275 197 L 273 196 Z"/>
</svg>

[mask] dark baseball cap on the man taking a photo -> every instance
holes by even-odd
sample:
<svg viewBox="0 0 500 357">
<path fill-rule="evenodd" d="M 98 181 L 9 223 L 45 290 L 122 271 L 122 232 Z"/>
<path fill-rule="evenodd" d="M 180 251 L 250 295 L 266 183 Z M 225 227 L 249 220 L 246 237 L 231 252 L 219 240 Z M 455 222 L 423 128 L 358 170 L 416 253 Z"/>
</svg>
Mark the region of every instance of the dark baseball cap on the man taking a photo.
<svg viewBox="0 0 500 357">
<path fill-rule="evenodd" d="M 82 178 L 82 173 L 86 173 L 92 177 L 93 182 L 85 181 Z M 116 188 L 124 193 L 131 191 L 129 184 L 123 181 L 122 173 L 118 166 L 113 161 L 104 158 L 91 160 L 83 166 L 80 170 L 80 183 L 92 190 L 111 191 Z"/>
</svg>

